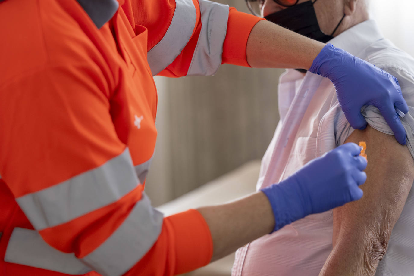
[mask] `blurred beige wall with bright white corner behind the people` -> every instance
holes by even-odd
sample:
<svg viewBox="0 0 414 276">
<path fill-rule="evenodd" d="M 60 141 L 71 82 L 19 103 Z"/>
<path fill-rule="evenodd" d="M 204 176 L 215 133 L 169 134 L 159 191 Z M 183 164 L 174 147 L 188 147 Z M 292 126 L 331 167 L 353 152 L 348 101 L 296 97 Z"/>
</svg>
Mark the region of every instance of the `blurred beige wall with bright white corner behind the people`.
<svg viewBox="0 0 414 276">
<path fill-rule="evenodd" d="M 218 2 L 248 12 L 244 0 Z M 414 55 L 414 1 L 371 0 L 370 9 L 385 37 Z M 279 120 L 282 72 L 222 65 L 213 77 L 155 78 L 158 138 L 145 186 L 154 206 L 262 157 Z"/>
</svg>

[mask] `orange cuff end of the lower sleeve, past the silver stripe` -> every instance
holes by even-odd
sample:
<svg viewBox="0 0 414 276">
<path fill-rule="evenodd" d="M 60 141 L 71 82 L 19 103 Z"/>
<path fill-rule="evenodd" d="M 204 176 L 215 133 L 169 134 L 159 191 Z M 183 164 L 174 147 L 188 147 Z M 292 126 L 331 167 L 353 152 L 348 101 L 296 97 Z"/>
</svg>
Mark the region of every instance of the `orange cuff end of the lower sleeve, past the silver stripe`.
<svg viewBox="0 0 414 276">
<path fill-rule="evenodd" d="M 198 211 L 188 210 L 164 218 L 157 242 L 125 276 L 183 274 L 207 265 L 212 254 L 206 221 Z"/>
</svg>

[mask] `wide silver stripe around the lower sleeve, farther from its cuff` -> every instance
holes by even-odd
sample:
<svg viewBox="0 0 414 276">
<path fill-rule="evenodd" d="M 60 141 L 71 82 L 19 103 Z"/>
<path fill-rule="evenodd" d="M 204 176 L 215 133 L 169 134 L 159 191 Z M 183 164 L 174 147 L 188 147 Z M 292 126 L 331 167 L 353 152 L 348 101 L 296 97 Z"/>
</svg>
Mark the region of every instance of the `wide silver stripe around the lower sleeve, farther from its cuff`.
<svg viewBox="0 0 414 276">
<path fill-rule="evenodd" d="M 97 168 L 16 200 L 34 228 L 42 230 L 116 202 L 137 185 L 127 148 Z"/>
</svg>

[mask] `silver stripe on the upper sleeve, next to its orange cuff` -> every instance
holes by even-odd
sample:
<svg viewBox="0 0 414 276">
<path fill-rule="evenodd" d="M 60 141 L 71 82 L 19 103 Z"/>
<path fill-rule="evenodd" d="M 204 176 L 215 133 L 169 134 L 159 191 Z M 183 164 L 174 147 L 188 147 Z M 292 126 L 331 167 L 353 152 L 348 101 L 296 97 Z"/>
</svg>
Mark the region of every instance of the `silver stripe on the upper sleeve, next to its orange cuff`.
<svg viewBox="0 0 414 276">
<path fill-rule="evenodd" d="M 213 75 L 221 65 L 221 54 L 226 37 L 229 6 L 199 0 L 201 31 L 187 75 Z"/>
</svg>

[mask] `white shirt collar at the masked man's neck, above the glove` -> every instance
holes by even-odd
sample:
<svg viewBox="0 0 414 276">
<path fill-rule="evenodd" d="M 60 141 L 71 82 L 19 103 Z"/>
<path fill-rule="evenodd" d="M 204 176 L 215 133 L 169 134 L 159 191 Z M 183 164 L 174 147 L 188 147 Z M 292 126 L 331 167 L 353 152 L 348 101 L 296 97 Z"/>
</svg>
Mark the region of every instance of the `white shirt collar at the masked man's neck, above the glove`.
<svg viewBox="0 0 414 276">
<path fill-rule="evenodd" d="M 346 50 L 351 55 L 364 59 L 366 57 L 362 56 L 363 50 L 383 38 L 384 36 L 381 34 L 375 20 L 369 19 L 335 36 L 329 43 Z"/>
</svg>

